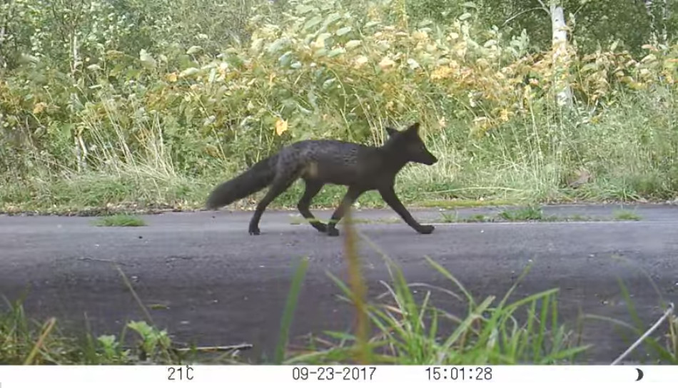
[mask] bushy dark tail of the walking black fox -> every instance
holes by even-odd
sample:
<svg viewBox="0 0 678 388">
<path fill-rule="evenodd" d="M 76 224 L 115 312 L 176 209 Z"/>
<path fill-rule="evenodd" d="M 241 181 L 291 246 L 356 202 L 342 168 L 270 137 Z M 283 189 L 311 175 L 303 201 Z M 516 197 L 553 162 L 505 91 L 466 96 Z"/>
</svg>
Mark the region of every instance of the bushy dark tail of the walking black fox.
<svg viewBox="0 0 678 388">
<path fill-rule="evenodd" d="M 212 190 L 207 198 L 206 208 L 214 210 L 245 198 L 270 185 L 275 178 L 275 165 L 278 155 L 259 160 L 249 170 L 231 180 L 227 180 Z"/>
</svg>

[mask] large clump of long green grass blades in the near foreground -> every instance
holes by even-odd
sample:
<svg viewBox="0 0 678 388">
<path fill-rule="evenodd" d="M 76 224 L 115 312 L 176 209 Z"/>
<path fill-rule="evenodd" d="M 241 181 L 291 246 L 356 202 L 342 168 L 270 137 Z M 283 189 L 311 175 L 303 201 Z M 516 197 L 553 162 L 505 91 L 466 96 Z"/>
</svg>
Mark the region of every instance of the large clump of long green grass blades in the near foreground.
<svg viewBox="0 0 678 388">
<path fill-rule="evenodd" d="M 287 359 L 288 363 L 371 359 L 378 364 L 558 364 L 573 362 L 588 348 L 578 346 L 574 333 L 558 322 L 557 290 L 509 302 L 516 284 L 498 302 L 495 297 L 477 301 L 459 280 L 430 259 L 427 262 L 432 270 L 450 281 L 450 289 L 411 285 L 395 262 L 366 240 L 383 256 L 390 273 L 390 282 L 382 282 L 386 292 L 379 299 L 383 302 L 368 302 L 358 255 L 350 248 L 356 232 L 350 220 L 344 225 L 350 282 L 347 285 L 332 274 L 328 276 L 355 308 L 355 333 L 329 332 L 328 339 L 316 339 L 324 349 L 298 352 Z M 425 290 L 423 298 L 417 297 L 418 288 Z M 457 317 L 432 305 L 433 292 L 466 306 L 467 315 Z M 517 315 L 525 315 L 524 320 Z M 375 328 L 368 340 L 365 319 Z"/>
</svg>

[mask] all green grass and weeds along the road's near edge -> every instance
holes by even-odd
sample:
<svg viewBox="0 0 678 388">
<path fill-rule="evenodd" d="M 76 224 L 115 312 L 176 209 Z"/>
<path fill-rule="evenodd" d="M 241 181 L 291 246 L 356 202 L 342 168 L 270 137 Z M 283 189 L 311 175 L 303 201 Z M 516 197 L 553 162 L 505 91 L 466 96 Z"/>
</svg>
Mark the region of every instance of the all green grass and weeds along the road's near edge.
<svg viewBox="0 0 678 388">
<path fill-rule="evenodd" d="M 295 273 L 280 320 L 273 364 L 572 364 L 594 344 L 582 344 L 580 333 L 560 322 L 556 288 L 517 297 L 515 290 L 529 267 L 505 295 L 474 297 L 451 272 L 427 258 L 434 274 L 448 287 L 408 282 L 398 265 L 352 227 L 350 213 L 344 228 L 348 282 L 328 273 L 341 292 L 340 300 L 353 307 L 355 329 L 325 332 L 310 337 L 299 349 L 290 347 L 290 328 L 308 270 L 302 259 Z M 390 273 L 383 292 L 368 299 L 357 244 L 362 239 L 378 250 Z M 119 335 L 89 332 L 71 337 L 54 318 L 36 322 L 26 317 L 21 302 L 6 302 L 0 312 L 0 364 L 209 364 L 247 363 L 243 349 L 251 345 L 193 347 L 177 344 L 158 328 L 131 282 L 118 267 L 146 320 L 128 322 Z M 635 337 L 647 325 L 633 309 L 629 292 L 622 292 L 632 312 Z M 462 314 L 443 310 L 436 301 L 453 301 Z M 459 310 L 459 309 L 457 309 Z M 599 317 L 604 319 L 603 317 Z M 610 320 L 612 322 L 612 320 Z M 664 335 L 644 334 L 642 343 L 659 359 L 650 362 L 678 364 L 678 320 L 667 314 Z M 221 352 L 215 352 L 221 350 Z M 217 354 L 218 355 L 215 355 Z"/>
</svg>

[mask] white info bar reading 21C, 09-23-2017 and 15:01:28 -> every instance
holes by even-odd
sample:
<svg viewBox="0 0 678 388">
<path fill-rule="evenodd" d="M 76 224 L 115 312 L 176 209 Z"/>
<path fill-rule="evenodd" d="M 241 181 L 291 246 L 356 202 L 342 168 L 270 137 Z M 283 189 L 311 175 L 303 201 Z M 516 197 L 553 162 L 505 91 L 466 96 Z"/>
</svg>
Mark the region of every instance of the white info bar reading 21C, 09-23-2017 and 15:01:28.
<svg viewBox="0 0 678 388">
<path fill-rule="evenodd" d="M 511 384 L 516 387 L 576 387 L 572 384 L 678 386 L 678 366 L 487 366 L 487 365 L 0 365 L 0 387 L 442 387 L 445 384 Z M 412 385 L 408 385 L 412 384 Z M 414 385 L 416 384 L 416 385 Z M 503 386 L 503 385 L 502 385 Z M 582 385 L 585 387 L 585 385 Z"/>
</svg>

